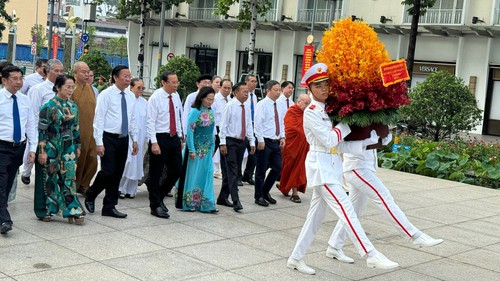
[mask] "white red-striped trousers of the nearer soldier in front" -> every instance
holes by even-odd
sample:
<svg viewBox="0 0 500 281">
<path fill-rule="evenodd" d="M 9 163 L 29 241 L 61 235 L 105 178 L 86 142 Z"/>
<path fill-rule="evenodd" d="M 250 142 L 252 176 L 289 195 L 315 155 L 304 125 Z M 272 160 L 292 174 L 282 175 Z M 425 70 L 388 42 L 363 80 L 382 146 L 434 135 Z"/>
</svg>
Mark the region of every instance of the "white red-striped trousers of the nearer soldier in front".
<svg viewBox="0 0 500 281">
<path fill-rule="evenodd" d="M 315 186 L 311 198 L 311 206 L 307 213 L 306 222 L 300 231 L 299 238 L 295 244 L 291 257 L 301 260 L 314 241 L 314 237 L 325 218 L 326 211 L 330 207 L 339 217 L 339 223 L 345 226 L 349 237 L 356 246 L 361 256 L 374 249 L 370 240 L 366 237 L 354 208 L 339 184 L 328 184 Z"/>
</svg>

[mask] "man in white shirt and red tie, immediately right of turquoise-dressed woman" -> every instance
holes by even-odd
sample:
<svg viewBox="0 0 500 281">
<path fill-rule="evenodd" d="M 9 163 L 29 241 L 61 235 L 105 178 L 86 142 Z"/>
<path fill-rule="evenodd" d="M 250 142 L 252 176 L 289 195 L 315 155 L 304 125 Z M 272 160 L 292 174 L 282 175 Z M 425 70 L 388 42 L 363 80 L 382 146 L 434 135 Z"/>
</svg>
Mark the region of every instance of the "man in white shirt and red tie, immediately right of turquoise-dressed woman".
<svg viewBox="0 0 500 281">
<path fill-rule="evenodd" d="M 239 212 L 243 209 L 238 196 L 239 168 L 247 145 L 250 146 L 250 154 L 255 152 L 255 140 L 250 108 L 245 104 L 248 87 L 243 82 L 238 83 L 233 92 L 234 99 L 224 107 L 220 120 L 220 153 L 225 165 L 222 165 L 222 187 L 217 204 L 233 207 Z M 229 194 L 233 203 L 228 200 Z"/>
</svg>

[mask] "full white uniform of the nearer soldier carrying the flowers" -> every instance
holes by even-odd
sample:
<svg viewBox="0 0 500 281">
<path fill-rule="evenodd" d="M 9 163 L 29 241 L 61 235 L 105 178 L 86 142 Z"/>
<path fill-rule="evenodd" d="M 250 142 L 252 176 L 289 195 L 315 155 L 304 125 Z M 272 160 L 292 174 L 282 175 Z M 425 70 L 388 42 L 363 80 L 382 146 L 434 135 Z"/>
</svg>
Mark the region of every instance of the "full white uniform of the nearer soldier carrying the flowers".
<svg viewBox="0 0 500 281">
<path fill-rule="evenodd" d="M 304 131 L 310 145 L 306 157 L 307 185 L 313 188 L 313 194 L 306 222 L 291 255 L 295 260 L 304 257 L 321 226 L 327 207 L 337 214 L 361 256 L 374 249 L 342 188 L 342 160 L 337 153 L 360 153 L 363 150 L 362 141 L 343 142 L 343 138 L 351 132 L 349 126 L 338 124 L 333 127 L 324 108 L 324 103 L 313 100 L 304 111 Z"/>
</svg>

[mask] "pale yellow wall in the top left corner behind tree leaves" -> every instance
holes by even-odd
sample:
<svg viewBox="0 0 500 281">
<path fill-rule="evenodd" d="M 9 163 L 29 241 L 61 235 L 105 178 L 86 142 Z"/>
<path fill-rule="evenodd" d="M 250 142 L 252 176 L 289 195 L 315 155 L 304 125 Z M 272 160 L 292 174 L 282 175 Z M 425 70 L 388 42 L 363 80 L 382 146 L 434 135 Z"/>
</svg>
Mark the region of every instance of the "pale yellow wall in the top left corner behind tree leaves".
<svg viewBox="0 0 500 281">
<path fill-rule="evenodd" d="M 16 11 L 16 16 L 19 18 L 17 22 L 17 44 L 31 44 L 31 27 L 35 25 L 36 6 L 38 2 L 38 24 L 47 26 L 48 4 L 44 0 L 10 0 L 5 5 L 5 11 L 12 14 Z M 1 42 L 7 43 L 9 39 L 8 26 L 3 31 Z"/>
</svg>

